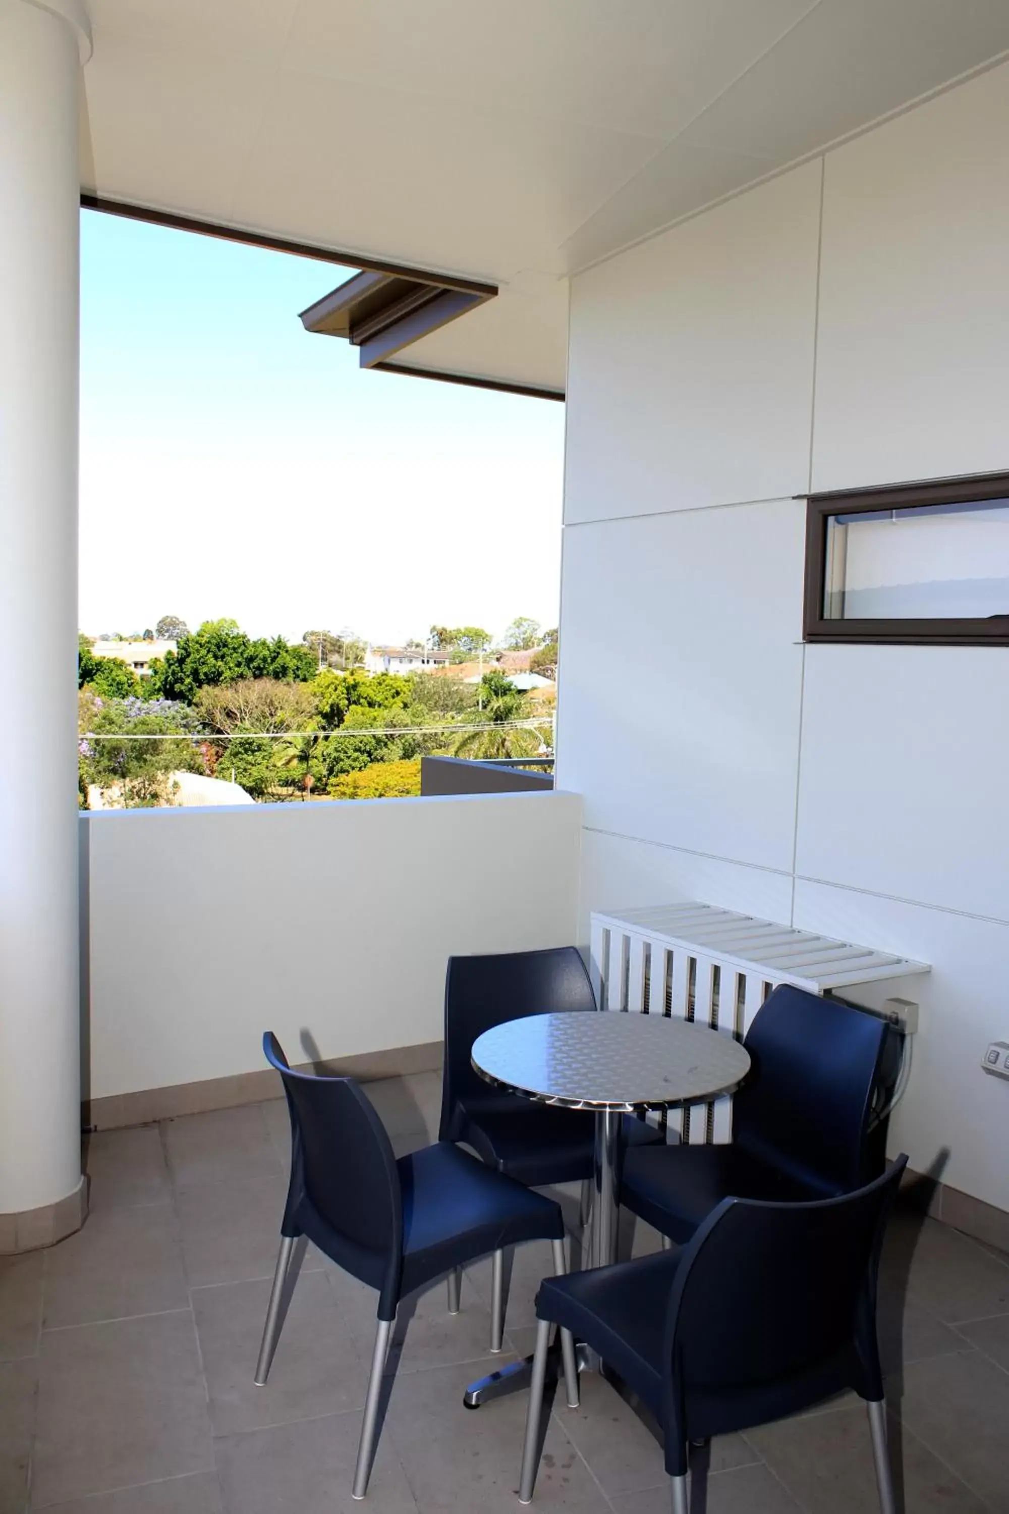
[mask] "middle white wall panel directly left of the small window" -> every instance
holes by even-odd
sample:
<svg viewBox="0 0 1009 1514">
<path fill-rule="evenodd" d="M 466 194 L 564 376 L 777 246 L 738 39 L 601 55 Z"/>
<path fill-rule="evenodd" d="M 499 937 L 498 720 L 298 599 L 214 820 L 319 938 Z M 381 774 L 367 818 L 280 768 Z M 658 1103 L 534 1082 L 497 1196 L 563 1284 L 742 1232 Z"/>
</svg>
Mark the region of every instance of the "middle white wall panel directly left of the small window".
<svg viewBox="0 0 1009 1514">
<path fill-rule="evenodd" d="M 558 783 L 585 824 L 791 868 L 803 506 L 569 527 Z"/>
</svg>

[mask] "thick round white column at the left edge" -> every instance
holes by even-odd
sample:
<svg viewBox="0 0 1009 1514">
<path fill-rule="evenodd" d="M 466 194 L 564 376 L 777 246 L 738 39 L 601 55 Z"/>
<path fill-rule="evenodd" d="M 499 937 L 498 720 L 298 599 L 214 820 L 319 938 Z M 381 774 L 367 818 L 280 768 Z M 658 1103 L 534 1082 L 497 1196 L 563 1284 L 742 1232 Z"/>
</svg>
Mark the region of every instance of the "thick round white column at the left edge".
<svg viewBox="0 0 1009 1514">
<path fill-rule="evenodd" d="M 80 1223 L 79 0 L 0 0 L 0 1252 Z"/>
</svg>

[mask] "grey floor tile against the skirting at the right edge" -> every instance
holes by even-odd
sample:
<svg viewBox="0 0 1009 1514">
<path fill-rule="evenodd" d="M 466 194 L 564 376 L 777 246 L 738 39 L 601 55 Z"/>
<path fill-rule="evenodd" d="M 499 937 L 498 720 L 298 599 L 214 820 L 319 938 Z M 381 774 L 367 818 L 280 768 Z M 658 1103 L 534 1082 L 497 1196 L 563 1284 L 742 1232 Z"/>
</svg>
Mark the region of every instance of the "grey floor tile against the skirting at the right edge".
<svg viewBox="0 0 1009 1514">
<path fill-rule="evenodd" d="M 1009 1313 L 1009 1267 L 936 1220 L 894 1216 L 882 1278 L 945 1325 Z"/>
</svg>

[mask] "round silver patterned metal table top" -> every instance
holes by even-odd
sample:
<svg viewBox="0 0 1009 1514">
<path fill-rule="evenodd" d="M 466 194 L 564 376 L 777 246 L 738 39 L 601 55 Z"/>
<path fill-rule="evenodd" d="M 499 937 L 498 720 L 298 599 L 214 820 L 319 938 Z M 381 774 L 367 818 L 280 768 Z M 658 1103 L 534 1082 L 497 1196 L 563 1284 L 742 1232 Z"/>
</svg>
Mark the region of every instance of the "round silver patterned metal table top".
<svg viewBox="0 0 1009 1514">
<path fill-rule="evenodd" d="M 472 1063 L 481 1078 L 543 1104 L 661 1110 L 731 1093 L 749 1054 L 706 1025 L 661 1014 L 529 1014 L 484 1031 Z"/>
</svg>

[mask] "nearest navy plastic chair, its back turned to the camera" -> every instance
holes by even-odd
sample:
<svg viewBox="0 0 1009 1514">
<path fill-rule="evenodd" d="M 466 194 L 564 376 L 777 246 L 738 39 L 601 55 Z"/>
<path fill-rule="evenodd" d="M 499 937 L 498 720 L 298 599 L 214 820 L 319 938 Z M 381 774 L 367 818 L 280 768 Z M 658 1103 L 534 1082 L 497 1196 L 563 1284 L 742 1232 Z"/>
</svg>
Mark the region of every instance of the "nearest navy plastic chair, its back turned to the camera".
<svg viewBox="0 0 1009 1514">
<path fill-rule="evenodd" d="M 551 1325 L 598 1350 L 658 1422 L 673 1514 L 690 1441 L 796 1414 L 853 1388 L 868 1403 L 882 1514 L 894 1514 L 876 1338 L 876 1273 L 908 1158 L 809 1204 L 725 1199 L 682 1251 L 540 1284 L 519 1499 L 539 1464 Z"/>
</svg>

